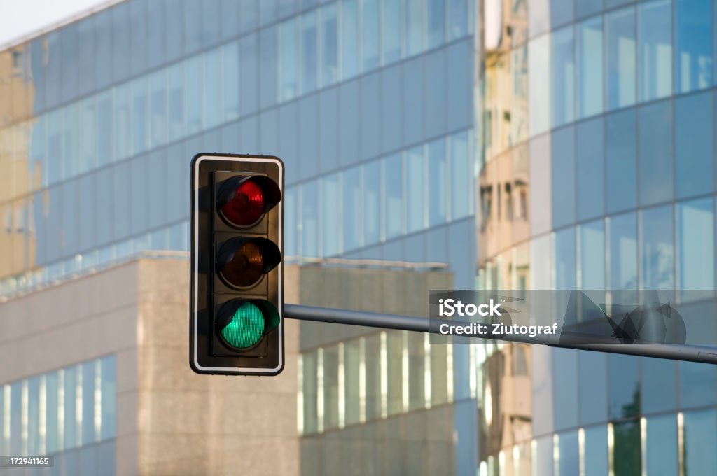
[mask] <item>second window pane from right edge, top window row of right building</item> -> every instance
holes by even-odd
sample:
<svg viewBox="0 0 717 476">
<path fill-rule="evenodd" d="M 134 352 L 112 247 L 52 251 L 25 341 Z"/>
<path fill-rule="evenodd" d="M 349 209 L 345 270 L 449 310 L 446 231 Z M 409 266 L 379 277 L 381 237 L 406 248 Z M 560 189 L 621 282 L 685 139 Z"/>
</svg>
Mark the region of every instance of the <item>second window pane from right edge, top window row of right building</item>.
<svg viewBox="0 0 717 476">
<path fill-rule="evenodd" d="M 640 100 L 672 93 L 672 2 L 657 0 L 637 6 L 640 52 Z"/>
</svg>

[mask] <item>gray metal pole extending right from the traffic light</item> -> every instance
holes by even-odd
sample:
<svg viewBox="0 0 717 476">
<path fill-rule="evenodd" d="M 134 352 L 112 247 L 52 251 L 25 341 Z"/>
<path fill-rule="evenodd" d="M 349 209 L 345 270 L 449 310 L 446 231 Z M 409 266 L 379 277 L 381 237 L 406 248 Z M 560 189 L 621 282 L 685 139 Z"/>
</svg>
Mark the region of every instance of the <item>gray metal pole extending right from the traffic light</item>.
<svg viewBox="0 0 717 476">
<path fill-rule="evenodd" d="M 432 319 L 429 326 L 427 318 L 419 318 L 411 315 L 368 313 L 357 310 L 318 308 L 297 304 L 284 305 L 284 317 L 296 320 L 311 320 L 320 323 L 334 323 L 345 325 L 362 325 L 364 327 L 411 330 L 412 332 L 437 333 L 438 324 L 459 322 L 449 320 Z M 465 323 L 468 324 L 468 323 Z M 441 334 L 442 335 L 442 334 Z M 454 335 L 454 338 L 467 335 Z M 475 338 L 475 337 L 474 337 Z M 540 344 L 543 346 L 573 348 L 580 351 L 596 351 L 607 353 L 622 353 L 631 356 L 644 356 L 655 358 L 667 358 L 678 361 L 692 361 L 703 363 L 717 363 L 717 349 L 703 346 L 688 346 L 677 344 L 616 344 L 612 338 L 602 338 L 605 343 L 595 343 L 597 336 L 583 335 L 579 333 L 561 332 L 559 341 L 546 335 L 529 337 L 528 335 L 505 335 L 500 341 L 519 342 L 529 344 Z M 484 341 L 486 339 L 483 339 Z M 589 343 L 588 343 L 589 342 Z"/>
</svg>

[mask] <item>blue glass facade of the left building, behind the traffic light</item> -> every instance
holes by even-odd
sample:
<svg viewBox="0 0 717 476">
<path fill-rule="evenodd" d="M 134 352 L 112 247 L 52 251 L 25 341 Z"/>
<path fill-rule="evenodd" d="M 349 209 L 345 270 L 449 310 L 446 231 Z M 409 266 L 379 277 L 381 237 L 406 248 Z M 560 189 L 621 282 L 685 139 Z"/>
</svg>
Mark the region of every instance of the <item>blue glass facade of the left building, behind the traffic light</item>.
<svg viewBox="0 0 717 476">
<path fill-rule="evenodd" d="M 391 239 L 470 219 L 470 3 L 204 3 L 127 1 L 1 53 L 4 293 L 186 249 L 197 151 L 285 160 L 296 257 L 376 257 Z M 396 186 L 394 160 L 419 182 Z M 437 167 L 429 208 L 417 194 Z"/>
</svg>

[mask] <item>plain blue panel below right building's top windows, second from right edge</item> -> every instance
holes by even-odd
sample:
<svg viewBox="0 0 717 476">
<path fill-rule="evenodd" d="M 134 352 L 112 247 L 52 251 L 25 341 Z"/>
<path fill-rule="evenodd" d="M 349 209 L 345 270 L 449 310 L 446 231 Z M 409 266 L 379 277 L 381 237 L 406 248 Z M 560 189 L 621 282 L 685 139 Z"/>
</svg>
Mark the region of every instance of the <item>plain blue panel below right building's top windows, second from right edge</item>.
<svg viewBox="0 0 717 476">
<path fill-rule="evenodd" d="M 640 204 L 673 198 L 673 108 L 670 101 L 640 108 Z"/>
</svg>

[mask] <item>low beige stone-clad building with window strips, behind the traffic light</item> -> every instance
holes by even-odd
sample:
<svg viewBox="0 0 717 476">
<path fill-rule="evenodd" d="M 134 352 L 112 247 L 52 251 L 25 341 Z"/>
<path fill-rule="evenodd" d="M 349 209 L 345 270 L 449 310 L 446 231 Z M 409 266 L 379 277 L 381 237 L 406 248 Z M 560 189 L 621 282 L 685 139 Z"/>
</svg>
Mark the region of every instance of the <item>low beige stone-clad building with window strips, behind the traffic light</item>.
<svg viewBox="0 0 717 476">
<path fill-rule="evenodd" d="M 452 280 L 350 264 L 286 267 L 286 302 L 425 315 L 425 291 Z M 201 376 L 188 290 L 186 257 L 153 252 L 0 304 L 0 454 L 55 456 L 0 475 L 455 472 L 449 346 L 286 320 L 279 376 Z"/>
</svg>

